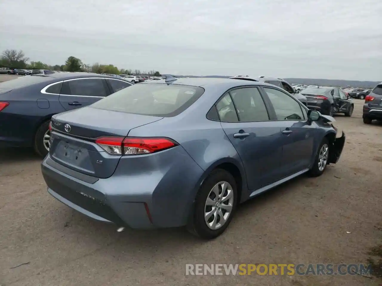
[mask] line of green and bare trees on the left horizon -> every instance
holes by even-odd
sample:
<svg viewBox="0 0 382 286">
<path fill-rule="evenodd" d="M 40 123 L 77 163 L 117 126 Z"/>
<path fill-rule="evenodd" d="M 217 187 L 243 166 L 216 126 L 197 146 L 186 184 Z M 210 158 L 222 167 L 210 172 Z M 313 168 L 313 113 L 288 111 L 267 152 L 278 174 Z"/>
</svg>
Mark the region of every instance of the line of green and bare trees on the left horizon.
<svg viewBox="0 0 382 286">
<path fill-rule="evenodd" d="M 42 61 L 31 61 L 25 56 L 22 50 L 5 50 L 0 56 L 0 67 L 10 69 L 49 69 L 50 71 L 69 71 L 69 72 L 96 72 L 98 74 L 127 74 L 127 75 L 149 75 L 161 76 L 159 71 L 140 71 L 138 69 L 118 69 L 112 64 L 85 64 L 81 59 L 70 56 L 64 64 L 54 66 L 43 63 Z"/>
</svg>

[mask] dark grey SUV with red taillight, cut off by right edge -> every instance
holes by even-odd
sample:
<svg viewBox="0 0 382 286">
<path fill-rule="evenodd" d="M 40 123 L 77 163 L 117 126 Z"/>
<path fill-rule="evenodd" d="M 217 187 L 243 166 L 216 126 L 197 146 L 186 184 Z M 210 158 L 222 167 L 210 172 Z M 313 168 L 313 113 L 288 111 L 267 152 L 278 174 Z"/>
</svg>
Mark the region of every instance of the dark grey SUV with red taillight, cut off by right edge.
<svg viewBox="0 0 382 286">
<path fill-rule="evenodd" d="M 362 118 L 365 124 L 371 124 L 374 119 L 382 121 L 382 82 L 366 95 Z"/>
</svg>

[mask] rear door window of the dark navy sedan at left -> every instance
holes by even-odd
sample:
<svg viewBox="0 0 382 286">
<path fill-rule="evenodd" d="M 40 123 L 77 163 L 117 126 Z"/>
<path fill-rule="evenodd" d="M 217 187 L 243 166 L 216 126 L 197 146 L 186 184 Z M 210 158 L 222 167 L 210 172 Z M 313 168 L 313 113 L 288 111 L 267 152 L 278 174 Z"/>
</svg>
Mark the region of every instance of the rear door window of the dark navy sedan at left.
<svg viewBox="0 0 382 286">
<path fill-rule="evenodd" d="M 61 94 L 77 96 L 107 96 L 104 79 L 76 79 L 63 83 Z"/>
</svg>

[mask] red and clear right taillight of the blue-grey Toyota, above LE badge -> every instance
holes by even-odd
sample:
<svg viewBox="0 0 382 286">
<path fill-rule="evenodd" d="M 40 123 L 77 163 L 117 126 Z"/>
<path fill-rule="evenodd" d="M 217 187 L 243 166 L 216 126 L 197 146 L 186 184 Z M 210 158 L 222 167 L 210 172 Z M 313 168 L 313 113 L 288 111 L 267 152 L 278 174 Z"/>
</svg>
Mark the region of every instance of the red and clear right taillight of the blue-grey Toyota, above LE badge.
<svg viewBox="0 0 382 286">
<path fill-rule="evenodd" d="M 95 140 L 110 155 L 149 154 L 178 145 L 169 138 L 100 137 Z"/>
</svg>

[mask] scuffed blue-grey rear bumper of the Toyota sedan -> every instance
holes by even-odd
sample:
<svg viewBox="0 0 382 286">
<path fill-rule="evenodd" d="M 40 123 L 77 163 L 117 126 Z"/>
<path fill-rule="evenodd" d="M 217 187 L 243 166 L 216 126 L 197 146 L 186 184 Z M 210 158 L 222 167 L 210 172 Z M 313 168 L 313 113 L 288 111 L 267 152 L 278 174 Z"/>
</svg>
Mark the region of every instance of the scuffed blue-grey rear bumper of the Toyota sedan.
<svg viewBox="0 0 382 286">
<path fill-rule="evenodd" d="M 168 153 L 162 154 L 168 163 L 159 164 L 161 154 L 152 154 L 159 155 L 157 170 L 128 174 L 125 164 L 131 162 L 121 159 L 106 179 L 56 168 L 49 155 L 41 170 L 48 193 L 92 219 L 130 228 L 180 227 L 188 222 L 203 170 L 178 147 L 159 152 Z"/>
</svg>

